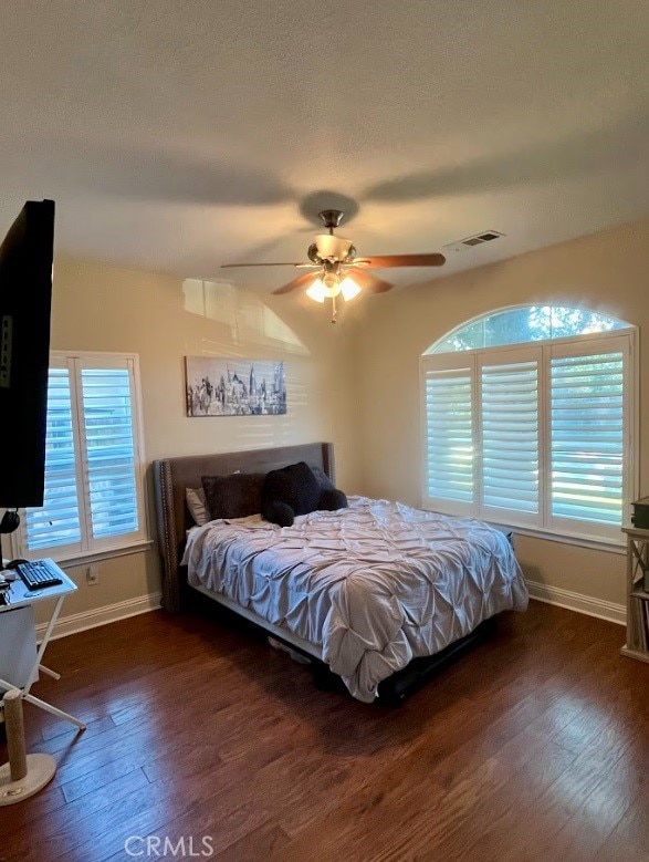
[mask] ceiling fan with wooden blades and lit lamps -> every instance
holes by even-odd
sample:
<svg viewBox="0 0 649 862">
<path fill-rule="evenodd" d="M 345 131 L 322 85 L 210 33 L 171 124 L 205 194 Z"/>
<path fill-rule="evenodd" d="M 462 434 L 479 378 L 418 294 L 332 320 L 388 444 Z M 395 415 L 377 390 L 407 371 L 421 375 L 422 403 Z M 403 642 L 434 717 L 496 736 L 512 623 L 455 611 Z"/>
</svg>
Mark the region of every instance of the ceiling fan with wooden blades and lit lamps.
<svg viewBox="0 0 649 862">
<path fill-rule="evenodd" d="M 305 263 L 223 263 L 222 268 L 233 267 L 296 267 L 311 269 L 297 276 L 273 293 L 289 293 L 296 288 L 306 288 L 306 294 L 315 302 L 332 300 L 332 323 L 336 322 L 336 297 L 345 300 L 354 299 L 362 290 L 370 293 L 383 293 L 394 287 L 389 281 L 377 278 L 368 269 L 386 269 L 391 267 L 441 267 L 446 262 L 443 255 L 378 255 L 358 257 L 356 247 L 349 239 L 337 237 L 335 228 L 343 221 L 344 212 L 339 209 L 323 209 L 317 214 L 328 233 L 318 233 L 306 251 L 310 262 Z"/>
</svg>

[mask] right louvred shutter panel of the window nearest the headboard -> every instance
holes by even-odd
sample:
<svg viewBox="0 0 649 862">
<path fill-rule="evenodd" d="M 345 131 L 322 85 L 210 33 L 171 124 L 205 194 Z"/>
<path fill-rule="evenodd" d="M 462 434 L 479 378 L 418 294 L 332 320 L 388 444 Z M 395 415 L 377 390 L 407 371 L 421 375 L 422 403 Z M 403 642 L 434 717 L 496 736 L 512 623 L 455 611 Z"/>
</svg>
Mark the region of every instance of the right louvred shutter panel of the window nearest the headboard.
<svg viewBox="0 0 649 862">
<path fill-rule="evenodd" d="M 128 367 L 82 368 L 92 536 L 138 529 L 133 401 Z"/>
</svg>

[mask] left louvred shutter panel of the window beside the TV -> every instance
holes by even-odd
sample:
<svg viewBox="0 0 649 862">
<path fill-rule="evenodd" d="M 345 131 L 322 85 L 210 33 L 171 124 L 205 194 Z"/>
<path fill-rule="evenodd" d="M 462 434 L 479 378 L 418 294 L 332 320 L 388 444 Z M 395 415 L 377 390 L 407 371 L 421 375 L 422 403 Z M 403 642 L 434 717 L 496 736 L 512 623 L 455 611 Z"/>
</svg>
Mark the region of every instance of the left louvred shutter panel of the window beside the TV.
<svg viewBox="0 0 649 862">
<path fill-rule="evenodd" d="M 27 509 L 29 550 L 81 542 L 71 375 L 51 367 L 48 376 L 45 494 L 43 506 Z"/>
</svg>

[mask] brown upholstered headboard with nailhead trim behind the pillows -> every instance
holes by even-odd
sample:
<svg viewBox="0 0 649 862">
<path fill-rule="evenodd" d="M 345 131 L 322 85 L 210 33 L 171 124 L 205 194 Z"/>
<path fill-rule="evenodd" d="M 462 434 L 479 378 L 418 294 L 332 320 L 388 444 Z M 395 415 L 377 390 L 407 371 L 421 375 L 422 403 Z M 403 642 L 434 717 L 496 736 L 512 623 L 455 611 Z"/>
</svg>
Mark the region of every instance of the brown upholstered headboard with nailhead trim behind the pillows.
<svg viewBox="0 0 649 862">
<path fill-rule="evenodd" d="M 331 443 L 218 455 L 188 455 L 154 461 L 156 525 L 163 560 L 163 607 L 174 613 L 180 611 L 182 577 L 178 563 L 185 547 L 186 530 L 192 526 L 185 502 L 185 489 L 200 488 L 201 476 L 224 476 L 237 470 L 269 472 L 296 461 L 320 467 L 335 484 L 334 446 Z"/>
</svg>

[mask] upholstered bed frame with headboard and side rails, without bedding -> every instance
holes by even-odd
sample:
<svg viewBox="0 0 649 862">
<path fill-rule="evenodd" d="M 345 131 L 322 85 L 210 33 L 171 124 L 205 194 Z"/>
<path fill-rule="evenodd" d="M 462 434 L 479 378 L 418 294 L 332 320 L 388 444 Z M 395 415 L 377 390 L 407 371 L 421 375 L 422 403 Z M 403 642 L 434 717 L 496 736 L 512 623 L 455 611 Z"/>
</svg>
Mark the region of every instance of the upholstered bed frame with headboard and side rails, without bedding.
<svg viewBox="0 0 649 862">
<path fill-rule="evenodd" d="M 316 684 L 320 687 L 333 687 L 336 686 L 336 682 L 342 686 L 342 681 L 332 674 L 322 662 L 322 653 L 317 646 L 269 623 L 253 611 L 237 605 L 226 596 L 217 595 L 203 588 L 189 586 L 187 568 L 180 565 L 186 531 L 193 526 L 185 501 L 186 488 L 200 488 L 201 476 L 227 475 L 237 470 L 268 472 L 296 461 L 306 461 L 312 467 L 320 467 L 335 485 L 334 447 L 331 443 L 311 443 L 274 449 L 249 449 L 219 455 L 190 455 L 164 458 L 153 463 L 158 548 L 163 561 L 163 607 L 170 613 L 179 613 L 188 609 L 190 594 L 203 593 L 212 601 L 264 629 L 291 648 L 308 656 L 313 662 Z M 486 623 L 482 623 L 467 637 L 450 644 L 442 652 L 428 658 L 416 658 L 410 662 L 408 667 L 388 679 L 384 679 L 378 689 L 379 702 L 395 704 L 404 700 L 431 675 L 438 673 L 451 660 L 463 653 L 483 635 L 486 629 Z"/>
</svg>

